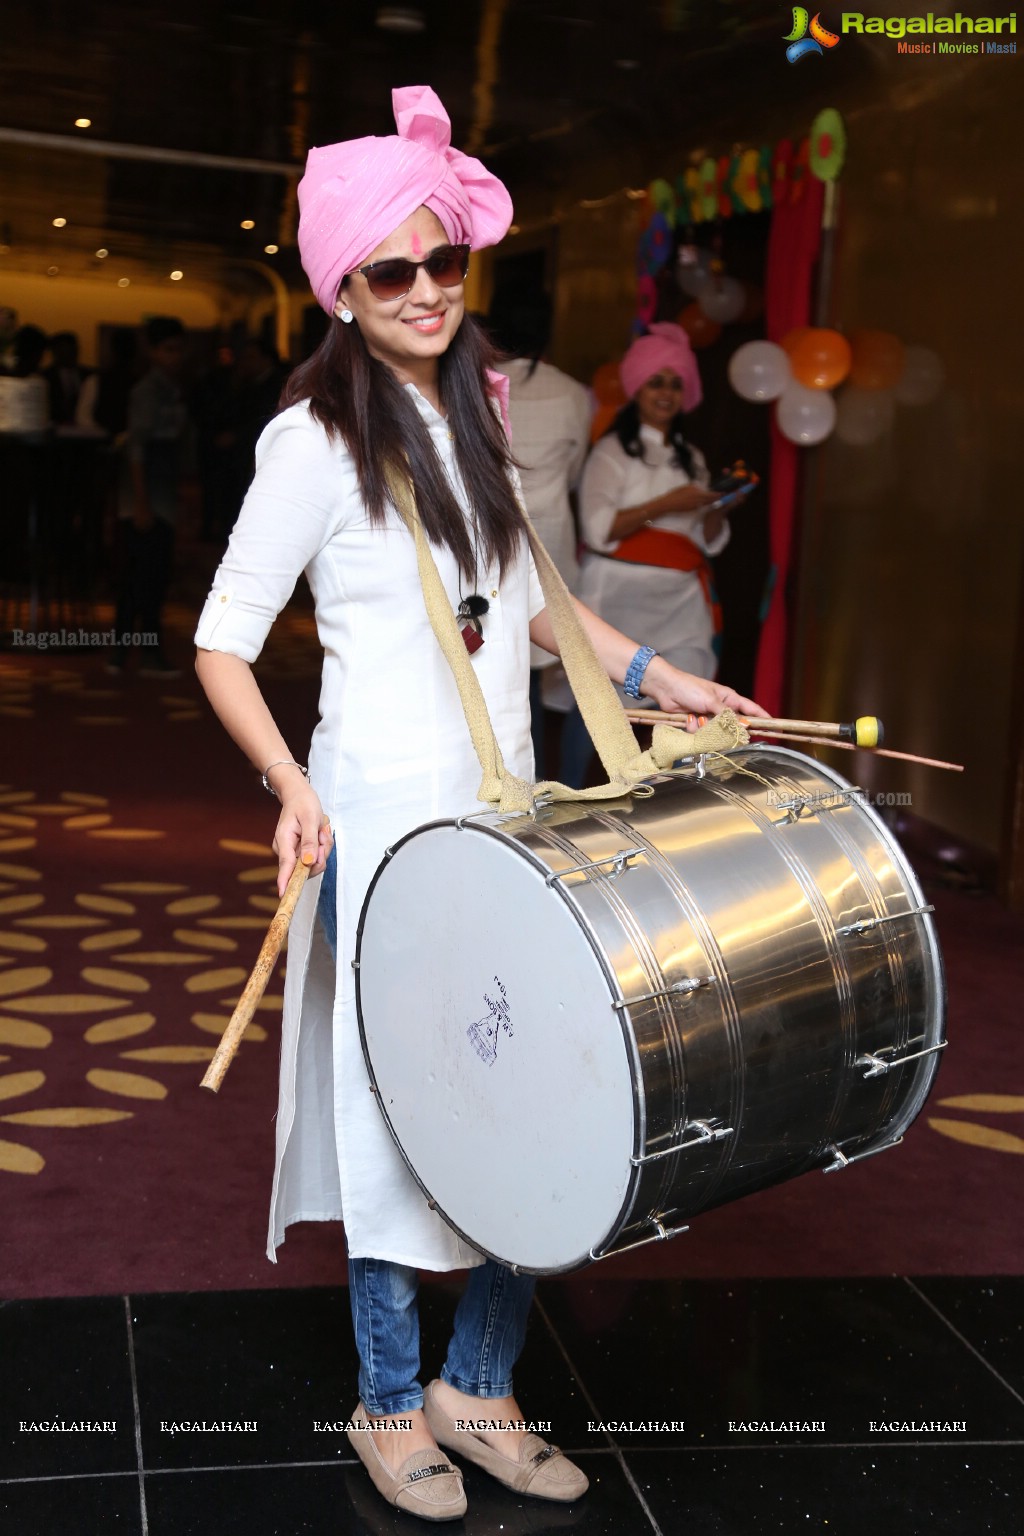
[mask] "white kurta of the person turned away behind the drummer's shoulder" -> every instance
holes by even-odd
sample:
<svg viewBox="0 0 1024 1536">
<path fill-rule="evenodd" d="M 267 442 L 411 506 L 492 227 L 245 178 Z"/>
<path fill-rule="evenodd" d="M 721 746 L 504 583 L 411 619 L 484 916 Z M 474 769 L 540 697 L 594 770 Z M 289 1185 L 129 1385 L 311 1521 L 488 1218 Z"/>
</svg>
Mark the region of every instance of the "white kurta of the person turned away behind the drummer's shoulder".
<svg viewBox="0 0 1024 1536">
<path fill-rule="evenodd" d="M 570 490 L 580 476 L 590 445 L 590 395 L 548 362 L 511 358 L 499 364 L 499 370 L 508 376 L 511 442 L 524 504 L 562 581 L 574 590 L 579 561 Z M 534 645 L 530 665 L 551 667 L 554 656 Z"/>
</svg>

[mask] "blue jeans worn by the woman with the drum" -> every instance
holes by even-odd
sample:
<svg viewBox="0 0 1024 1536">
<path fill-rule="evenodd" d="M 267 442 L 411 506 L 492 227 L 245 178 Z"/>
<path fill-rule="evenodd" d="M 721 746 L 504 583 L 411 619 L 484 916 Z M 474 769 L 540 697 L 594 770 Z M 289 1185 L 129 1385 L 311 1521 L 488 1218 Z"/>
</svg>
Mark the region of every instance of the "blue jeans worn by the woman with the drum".
<svg viewBox="0 0 1024 1536">
<path fill-rule="evenodd" d="M 332 848 L 321 880 L 318 915 L 338 958 L 338 860 Z M 454 1315 L 442 1381 L 474 1398 L 511 1396 L 513 1366 L 527 1338 L 533 1275 L 513 1275 L 488 1258 L 470 1270 Z M 359 1398 L 372 1418 L 421 1409 L 419 1273 L 381 1258 L 348 1260 L 348 1301 L 359 1352 Z"/>
</svg>

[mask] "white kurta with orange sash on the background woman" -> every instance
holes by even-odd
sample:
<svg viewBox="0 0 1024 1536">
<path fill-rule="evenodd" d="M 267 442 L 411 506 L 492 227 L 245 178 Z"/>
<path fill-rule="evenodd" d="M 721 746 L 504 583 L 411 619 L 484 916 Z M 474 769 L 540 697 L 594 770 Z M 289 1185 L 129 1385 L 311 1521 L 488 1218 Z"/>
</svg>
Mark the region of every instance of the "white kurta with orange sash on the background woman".
<svg viewBox="0 0 1024 1536">
<path fill-rule="evenodd" d="M 714 628 L 699 578 L 692 571 L 605 558 L 619 548 L 619 541 L 608 535 L 623 507 L 640 507 L 679 485 L 708 485 L 708 467 L 697 449 L 692 450 L 695 473 L 691 479 L 654 427 L 640 427 L 640 442 L 643 458 L 631 459 L 619 438 L 609 433 L 594 444 L 586 461 L 580 481 L 580 531 L 588 553 L 576 591 L 602 619 L 652 645 L 674 667 L 714 677 Z M 706 554 L 718 554 L 729 542 L 728 524 L 717 539 L 706 541 L 703 519 L 692 511 L 659 518 L 656 527 L 685 533 Z"/>
</svg>

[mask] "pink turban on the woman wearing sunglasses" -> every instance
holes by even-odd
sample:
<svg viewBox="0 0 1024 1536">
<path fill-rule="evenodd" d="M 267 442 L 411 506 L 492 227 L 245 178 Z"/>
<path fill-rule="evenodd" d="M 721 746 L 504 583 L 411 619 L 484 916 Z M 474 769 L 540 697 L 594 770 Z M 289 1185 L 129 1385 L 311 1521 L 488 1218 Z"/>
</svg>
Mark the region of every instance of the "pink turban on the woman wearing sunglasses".
<svg viewBox="0 0 1024 1536">
<path fill-rule="evenodd" d="M 310 149 L 299 181 L 299 255 L 333 313 L 341 280 L 425 204 L 453 246 L 494 246 L 513 206 L 479 160 L 451 147 L 451 121 L 430 86 L 391 91 L 398 135 Z"/>
</svg>

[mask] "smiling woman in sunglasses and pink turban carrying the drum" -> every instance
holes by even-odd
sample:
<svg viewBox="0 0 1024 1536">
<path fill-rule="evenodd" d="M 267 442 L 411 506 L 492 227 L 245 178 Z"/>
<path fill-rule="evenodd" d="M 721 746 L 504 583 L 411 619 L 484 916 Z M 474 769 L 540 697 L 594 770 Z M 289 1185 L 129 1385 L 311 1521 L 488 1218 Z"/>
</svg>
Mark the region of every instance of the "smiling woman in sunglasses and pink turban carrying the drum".
<svg viewBox="0 0 1024 1536">
<path fill-rule="evenodd" d="M 279 889 L 296 859 L 322 874 L 307 882 L 289 938 L 269 1256 L 292 1221 L 344 1218 L 361 1395 L 352 1444 L 391 1504 L 448 1519 L 462 1514 L 465 1496 L 438 1442 L 537 1498 L 574 1499 L 586 1478 L 522 1430 L 511 1395 L 531 1278 L 485 1261 L 430 1209 L 367 1092 L 352 968 L 365 891 L 390 843 L 424 822 L 481 809 L 479 762 L 430 627 L 413 538 L 390 499 L 388 464 L 410 465 L 504 762 L 528 779 L 530 642 L 554 650 L 554 636 L 490 350 L 464 313 L 468 252 L 502 238 L 511 203 L 477 160 L 451 149 L 433 91 L 396 91 L 393 100 L 396 135 L 310 151 L 299 252 L 330 329 L 259 439 L 256 475 L 200 619 L 197 670 L 281 800 Z M 309 770 L 250 670 L 301 573 L 324 648 Z M 646 650 L 593 614 L 585 624 L 609 676 L 629 673 L 665 708 L 755 708 L 662 659 L 645 671 Z M 395 714 L 401 730 L 387 725 Z M 415 998 L 416 977 L 408 980 Z M 514 1155 L 516 1129 L 504 1135 L 496 1152 Z M 425 1395 L 418 1269 L 470 1269 L 441 1379 Z M 511 1427 L 456 1425 L 482 1418 Z"/>
</svg>

